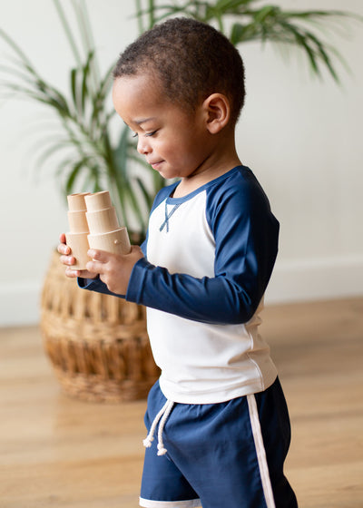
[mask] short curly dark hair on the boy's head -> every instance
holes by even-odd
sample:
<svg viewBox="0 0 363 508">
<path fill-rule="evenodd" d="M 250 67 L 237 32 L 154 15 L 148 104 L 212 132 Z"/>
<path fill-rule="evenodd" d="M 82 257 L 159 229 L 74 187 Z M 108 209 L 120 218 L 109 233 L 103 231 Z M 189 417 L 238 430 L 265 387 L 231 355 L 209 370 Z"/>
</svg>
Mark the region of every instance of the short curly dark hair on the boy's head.
<svg viewBox="0 0 363 508">
<path fill-rule="evenodd" d="M 115 79 L 156 73 L 165 97 L 194 111 L 211 93 L 223 93 L 237 122 L 245 98 L 244 65 L 228 38 L 187 17 L 156 24 L 130 44 L 113 70 Z"/>
</svg>

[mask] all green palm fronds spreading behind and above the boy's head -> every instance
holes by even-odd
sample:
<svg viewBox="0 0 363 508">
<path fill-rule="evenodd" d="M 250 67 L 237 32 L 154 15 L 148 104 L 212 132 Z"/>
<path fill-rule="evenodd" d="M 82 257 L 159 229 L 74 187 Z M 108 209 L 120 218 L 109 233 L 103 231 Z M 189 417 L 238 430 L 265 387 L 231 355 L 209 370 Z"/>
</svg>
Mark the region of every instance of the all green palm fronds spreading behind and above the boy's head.
<svg viewBox="0 0 363 508">
<path fill-rule="evenodd" d="M 306 55 L 314 74 L 321 76 L 326 70 L 336 82 L 337 61 L 344 61 L 328 37 L 337 36 L 336 28 L 344 26 L 349 19 L 362 21 L 358 15 L 343 11 L 291 11 L 263 0 L 134 2 L 140 33 L 165 18 L 190 16 L 216 25 L 235 45 L 260 41 L 297 47 Z M 45 127 L 39 131 L 42 136 L 38 142 L 40 149 L 35 152 L 37 171 L 53 168 L 65 195 L 80 190 L 102 190 L 107 186 L 123 223 L 130 230 L 130 224 L 136 221 L 143 236 L 153 197 L 165 181 L 139 157 L 127 128 L 122 129 L 116 143 L 112 142 L 115 112 L 108 99 L 114 63 L 106 73 L 100 73 L 86 2 L 70 0 L 69 5 L 79 37 L 75 36 L 74 24 L 65 14 L 64 3 L 54 0 L 74 57 L 68 92 L 44 80 L 2 28 L 0 39 L 11 50 L 11 56 L 0 65 L 0 92 L 5 98 L 25 98 L 39 103 L 57 119 L 60 133 L 54 134 Z M 135 164 L 140 171 L 132 171 Z"/>
</svg>

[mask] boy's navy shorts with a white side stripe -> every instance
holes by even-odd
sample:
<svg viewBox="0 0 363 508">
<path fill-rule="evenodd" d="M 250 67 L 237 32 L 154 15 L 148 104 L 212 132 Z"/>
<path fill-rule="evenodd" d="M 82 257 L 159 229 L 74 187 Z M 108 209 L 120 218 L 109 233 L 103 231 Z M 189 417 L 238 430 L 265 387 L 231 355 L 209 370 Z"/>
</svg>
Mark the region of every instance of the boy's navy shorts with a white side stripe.
<svg viewBox="0 0 363 508">
<path fill-rule="evenodd" d="M 151 418 L 165 403 L 161 393 L 157 400 L 157 391 L 152 398 L 157 409 Z M 221 404 L 177 404 L 162 437 L 168 453 L 157 456 L 155 443 L 146 450 L 144 478 L 158 489 L 169 478 L 175 489 L 168 498 L 157 498 L 164 503 L 143 506 L 198 506 L 199 497 L 203 508 L 297 507 L 282 471 L 289 449 L 289 415 L 279 381 L 256 396 Z"/>
</svg>

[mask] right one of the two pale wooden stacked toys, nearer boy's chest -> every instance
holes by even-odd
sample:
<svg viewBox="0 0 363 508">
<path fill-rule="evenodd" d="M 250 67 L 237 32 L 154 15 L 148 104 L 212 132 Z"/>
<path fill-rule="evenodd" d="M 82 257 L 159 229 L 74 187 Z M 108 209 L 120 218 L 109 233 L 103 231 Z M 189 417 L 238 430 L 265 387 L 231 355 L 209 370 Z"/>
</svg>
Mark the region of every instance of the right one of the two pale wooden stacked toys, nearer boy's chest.
<svg viewBox="0 0 363 508">
<path fill-rule="evenodd" d="M 120 227 L 108 190 L 89 194 L 84 198 L 91 249 L 113 254 L 128 254 L 131 250 L 126 228 Z"/>
</svg>

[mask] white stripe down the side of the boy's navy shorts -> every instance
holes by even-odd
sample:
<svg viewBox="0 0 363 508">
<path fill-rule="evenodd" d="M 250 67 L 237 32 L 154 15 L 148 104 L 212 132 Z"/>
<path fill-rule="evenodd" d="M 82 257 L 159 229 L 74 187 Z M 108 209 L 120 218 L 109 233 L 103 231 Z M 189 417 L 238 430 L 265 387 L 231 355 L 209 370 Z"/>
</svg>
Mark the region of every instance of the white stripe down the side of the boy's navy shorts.
<svg viewBox="0 0 363 508">
<path fill-rule="evenodd" d="M 270 481 L 269 466 L 267 464 L 265 446 L 263 445 L 262 433 L 260 430 L 259 411 L 257 409 L 256 398 L 254 395 L 247 396 L 250 411 L 250 425 L 252 426 L 253 439 L 257 458 L 259 461 L 260 477 L 262 481 L 263 493 L 265 495 L 267 508 L 275 508 L 272 486 Z"/>
</svg>

